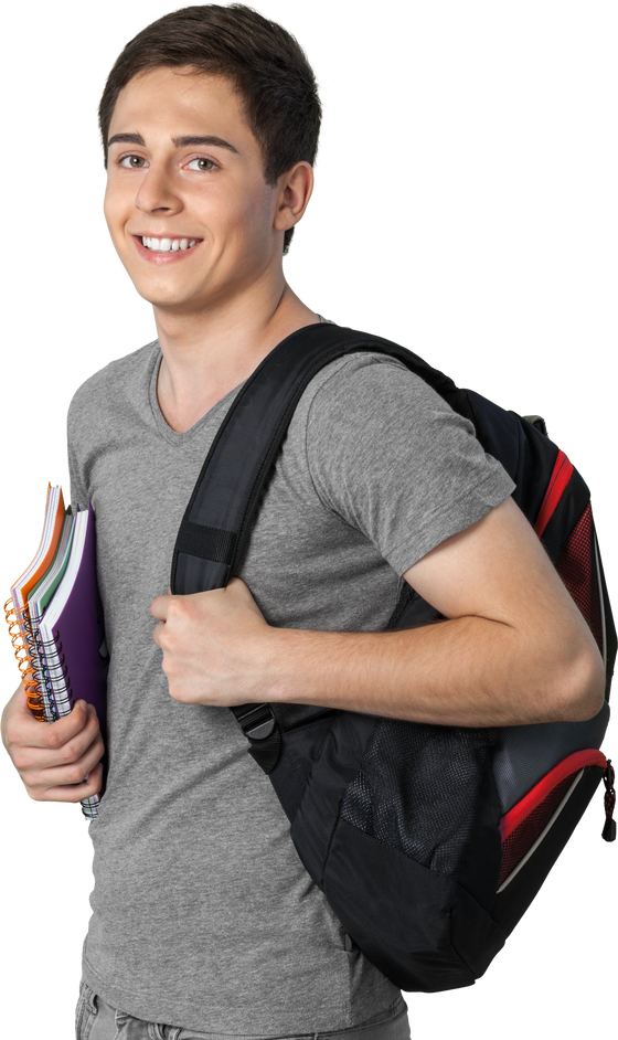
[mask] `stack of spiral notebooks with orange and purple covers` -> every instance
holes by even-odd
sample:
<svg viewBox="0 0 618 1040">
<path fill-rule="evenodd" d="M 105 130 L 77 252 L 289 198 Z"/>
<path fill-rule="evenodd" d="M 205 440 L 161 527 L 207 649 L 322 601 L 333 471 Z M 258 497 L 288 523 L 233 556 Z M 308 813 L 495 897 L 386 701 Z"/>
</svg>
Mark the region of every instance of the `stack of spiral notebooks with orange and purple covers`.
<svg viewBox="0 0 618 1040">
<path fill-rule="evenodd" d="M 96 576 L 95 516 L 90 502 L 72 514 L 65 488 L 45 486 L 39 542 L 28 566 L 9 586 L 2 619 L 15 672 L 41 722 L 70 714 L 78 700 L 96 708 L 107 747 L 109 654 Z M 79 803 L 85 823 L 98 815 L 98 795 Z"/>
</svg>

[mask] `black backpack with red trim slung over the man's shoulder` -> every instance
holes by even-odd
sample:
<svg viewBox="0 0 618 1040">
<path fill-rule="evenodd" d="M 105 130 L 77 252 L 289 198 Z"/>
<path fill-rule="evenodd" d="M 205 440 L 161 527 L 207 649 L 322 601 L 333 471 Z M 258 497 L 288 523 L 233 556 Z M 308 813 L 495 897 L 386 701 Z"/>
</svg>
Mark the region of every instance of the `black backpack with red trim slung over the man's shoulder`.
<svg viewBox="0 0 618 1040">
<path fill-rule="evenodd" d="M 585 722 L 472 729 L 316 708 L 295 725 L 285 704 L 230 709 L 348 948 L 351 938 L 404 991 L 444 993 L 478 981 L 502 949 L 601 778 L 601 837 L 616 840 L 618 768 L 598 749 L 610 718 L 618 595 L 600 559 L 593 491 L 542 416 L 531 423 L 401 343 L 334 323 L 288 336 L 232 403 L 179 529 L 173 594 L 222 588 L 237 573 L 306 386 L 323 365 L 364 350 L 403 361 L 472 422 L 516 482 L 512 497 L 606 665 L 606 700 Z M 404 582 L 386 630 L 435 618 L 444 615 Z"/>
</svg>

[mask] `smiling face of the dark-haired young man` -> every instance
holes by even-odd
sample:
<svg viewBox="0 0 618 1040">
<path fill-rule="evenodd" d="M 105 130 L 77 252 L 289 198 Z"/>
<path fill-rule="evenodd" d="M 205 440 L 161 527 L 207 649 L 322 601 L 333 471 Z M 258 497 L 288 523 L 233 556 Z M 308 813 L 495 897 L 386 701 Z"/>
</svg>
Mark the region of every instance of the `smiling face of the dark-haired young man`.
<svg viewBox="0 0 618 1040">
<path fill-rule="evenodd" d="M 178 316 L 259 295 L 270 283 L 283 288 L 284 231 L 298 220 L 264 180 L 260 146 L 231 83 L 187 72 L 150 70 L 120 92 L 102 206 L 139 296 Z M 198 244 L 152 253 L 142 235 Z"/>
</svg>

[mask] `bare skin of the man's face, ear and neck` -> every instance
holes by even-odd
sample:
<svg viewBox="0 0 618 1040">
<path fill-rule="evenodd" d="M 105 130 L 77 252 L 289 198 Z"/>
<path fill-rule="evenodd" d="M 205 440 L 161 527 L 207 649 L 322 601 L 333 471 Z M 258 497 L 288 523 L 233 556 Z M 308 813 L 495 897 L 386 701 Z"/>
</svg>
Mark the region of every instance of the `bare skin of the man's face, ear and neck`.
<svg viewBox="0 0 618 1040">
<path fill-rule="evenodd" d="M 283 269 L 284 232 L 311 198 L 311 167 L 297 162 L 269 188 L 230 82 L 189 73 L 157 68 L 120 92 L 108 140 L 138 132 L 145 146 L 110 146 L 102 201 L 110 246 L 152 311 L 163 353 L 157 392 L 175 429 L 190 428 L 286 336 L 319 322 Z M 175 135 L 216 136 L 236 151 L 177 148 Z M 159 265 L 136 247 L 132 235 L 148 232 L 203 242 Z"/>
</svg>

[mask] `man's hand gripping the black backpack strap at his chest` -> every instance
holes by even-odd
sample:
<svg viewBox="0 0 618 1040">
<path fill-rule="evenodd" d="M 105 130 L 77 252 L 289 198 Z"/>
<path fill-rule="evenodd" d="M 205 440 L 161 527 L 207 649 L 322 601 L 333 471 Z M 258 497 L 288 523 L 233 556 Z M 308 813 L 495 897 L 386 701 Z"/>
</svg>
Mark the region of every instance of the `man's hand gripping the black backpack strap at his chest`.
<svg viewBox="0 0 618 1040">
<path fill-rule="evenodd" d="M 174 700 L 233 708 L 273 699 L 277 629 L 241 577 L 189 596 L 169 590 L 152 601 L 150 613 L 162 623 L 152 638 L 163 651 Z"/>
</svg>

